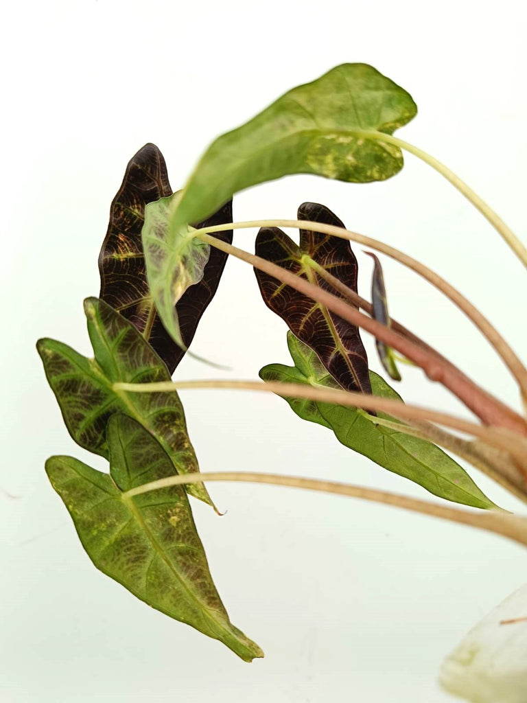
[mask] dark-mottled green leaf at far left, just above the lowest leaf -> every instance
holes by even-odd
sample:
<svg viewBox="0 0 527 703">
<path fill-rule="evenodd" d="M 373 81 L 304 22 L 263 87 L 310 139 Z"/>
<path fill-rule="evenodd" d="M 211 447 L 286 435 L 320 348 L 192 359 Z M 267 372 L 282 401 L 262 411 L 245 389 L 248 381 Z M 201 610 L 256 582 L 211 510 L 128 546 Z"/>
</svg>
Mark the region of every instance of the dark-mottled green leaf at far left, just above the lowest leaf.
<svg viewBox="0 0 527 703">
<path fill-rule="evenodd" d="M 134 325 L 110 305 L 87 298 L 84 311 L 94 359 L 86 359 L 62 342 L 37 342 L 46 377 L 72 438 L 84 449 L 108 458 L 108 418 L 113 413 L 126 413 L 156 437 L 176 472 L 199 471 L 177 393 L 127 393 L 113 388 L 115 382 L 169 381 L 160 357 Z M 212 505 L 204 486 L 189 485 L 188 492 Z"/>
</svg>

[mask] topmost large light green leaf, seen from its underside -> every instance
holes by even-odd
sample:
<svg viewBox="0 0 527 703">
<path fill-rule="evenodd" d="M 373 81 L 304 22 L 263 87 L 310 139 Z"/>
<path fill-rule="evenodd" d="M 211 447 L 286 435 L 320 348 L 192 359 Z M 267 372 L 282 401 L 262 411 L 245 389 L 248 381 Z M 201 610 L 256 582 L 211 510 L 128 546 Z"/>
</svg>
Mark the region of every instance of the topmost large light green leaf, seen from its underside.
<svg viewBox="0 0 527 703">
<path fill-rule="evenodd" d="M 401 150 L 368 137 L 392 134 L 416 112 L 410 95 L 372 66 L 337 66 L 217 138 L 190 176 L 171 229 L 207 217 L 244 188 L 287 174 L 353 183 L 387 179 L 403 167 Z"/>
</svg>

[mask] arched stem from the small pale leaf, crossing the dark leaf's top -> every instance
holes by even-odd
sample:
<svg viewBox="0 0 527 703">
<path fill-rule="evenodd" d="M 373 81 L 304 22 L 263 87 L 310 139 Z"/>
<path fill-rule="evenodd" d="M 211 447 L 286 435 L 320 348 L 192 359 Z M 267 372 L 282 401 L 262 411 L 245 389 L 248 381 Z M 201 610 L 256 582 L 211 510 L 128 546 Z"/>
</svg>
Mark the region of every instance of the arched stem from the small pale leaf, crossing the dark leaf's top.
<svg viewBox="0 0 527 703">
<path fill-rule="evenodd" d="M 376 239 L 365 237 L 362 234 L 351 232 L 347 229 L 336 227 L 334 225 L 323 224 L 321 222 L 311 222 L 307 220 L 276 219 L 230 222 L 223 225 L 204 227 L 197 230 L 195 234 L 196 236 L 203 238 L 204 235 L 214 232 L 222 232 L 230 229 L 247 229 L 253 227 L 292 227 L 295 229 L 308 229 L 313 232 L 329 234 L 335 237 L 340 237 L 341 239 L 347 239 L 364 244 L 367 247 L 371 247 L 372 249 L 386 254 L 386 256 L 391 257 L 391 259 L 395 259 L 404 266 L 407 266 L 408 269 L 412 269 L 412 271 L 418 273 L 419 276 L 422 276 L 422 278 L 428 280 L 429 283 L 435 286 L 435 288 L 441 290 L 441 292 L 448 297 L 462 312 L 464 312 L 464 314 L 474 323 L 474 325 L 476 325 L 483 336 L 486 337 L 486 340 L 488 340 L 488 342 L 490 342 L 490 344 L 494 347 L 497 354 L 500 355 L 501 359 L 518 382 L 522 397 L 527 398 L 527 369 L 523 366 L 523 363 L 519 357 L 516 356 L 514 350 L 509 346 L 509 344 L 507 344 L 505 339 L 499 332 L 497 332 L 493 325 L 490 324 L 490 321 L 488 321 L 488 319 L 481 314 L 481 312 L 474 307 L 474 305 L 471 304 L 471 302 L 469 302 L 469 300 L 467 300 L 467 298 L 465 298 L 459 290 L 454 288 L 453 285 L 450 285 L 450 283 L 447 283 L 447 281 L 444 278 L 441 278 L 438 273 L 432 271 L 427 266 L 424 266 L 421 262 L 418 262 L 416 259 L 409 257 L 408 254 L 403 254 L 403 252 L 398 249 L 390 247 L 389 245 L 379 242 Z M 221 248 L 216 244 L 214 244 L 214 246 Z M 242 250 L 238 250 L 238 252 L 240 251 Z M 393 344 L 390 346 L 393 346 Z"/>
</svg>

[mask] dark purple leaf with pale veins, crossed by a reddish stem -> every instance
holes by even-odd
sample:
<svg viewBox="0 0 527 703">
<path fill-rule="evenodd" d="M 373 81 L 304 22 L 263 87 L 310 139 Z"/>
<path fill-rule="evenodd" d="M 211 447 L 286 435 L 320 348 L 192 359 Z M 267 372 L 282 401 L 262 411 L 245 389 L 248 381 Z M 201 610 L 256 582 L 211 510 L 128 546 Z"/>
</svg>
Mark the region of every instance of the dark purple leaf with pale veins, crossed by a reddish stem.
<svg viewBox="0 0 527 703">
<path fill-rule="evenodd" d="M 344 227 L 330 209 L 315 202 L 304 202 L 298 218 Z M 297 246 L 280 229 L 262 228 L 256 237 L 256 254 L 337 297 L 342 296 L 320 276 L 318 267 L 357 292 L 357 259 L 348 240 L 301 230 Z M 358 328 L 267 273 L 258 269 L 254 273 L 266 305 L 316 352 L 341 387 L 371 393 L 367 356 Z"/>
</svg>

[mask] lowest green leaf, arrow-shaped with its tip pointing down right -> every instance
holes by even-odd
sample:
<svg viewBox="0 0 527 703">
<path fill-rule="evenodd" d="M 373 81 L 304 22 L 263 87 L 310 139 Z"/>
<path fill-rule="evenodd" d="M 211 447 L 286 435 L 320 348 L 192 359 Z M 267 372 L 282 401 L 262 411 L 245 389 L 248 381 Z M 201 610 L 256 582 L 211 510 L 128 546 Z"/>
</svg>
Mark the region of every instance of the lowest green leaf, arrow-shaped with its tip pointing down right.
<svg viewBox="0 0 527 703">
<path fill-rule="evenodd" d="M 110 476 L 68 456 L 46 472 L 84 549 L 100 571 L 161 612 L 226 644 L 246 662 L 263 652 L 228 619 L 181 486 L 137 496 L 124 491 L 171 476 L 160 444 L 135 420 L 108 423 Z"/>
</svg>

